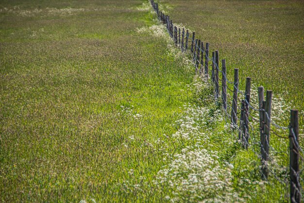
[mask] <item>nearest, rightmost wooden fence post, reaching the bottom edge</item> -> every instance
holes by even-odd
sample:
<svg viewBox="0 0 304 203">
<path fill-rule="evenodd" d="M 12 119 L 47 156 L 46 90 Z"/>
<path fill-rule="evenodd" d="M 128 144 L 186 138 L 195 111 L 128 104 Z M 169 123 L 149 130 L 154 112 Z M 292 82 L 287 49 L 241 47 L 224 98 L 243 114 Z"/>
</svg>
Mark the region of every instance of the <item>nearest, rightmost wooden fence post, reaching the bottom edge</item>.
<svg viewBox="0 0 304 203">
<path fill-rule="evenodd" d="M 301 185 L 299 169 L 299 111 L 290 110 L 289 127 L 289 175 L 290 175 L 290 202 L 301 202 Z"/>
</svg>

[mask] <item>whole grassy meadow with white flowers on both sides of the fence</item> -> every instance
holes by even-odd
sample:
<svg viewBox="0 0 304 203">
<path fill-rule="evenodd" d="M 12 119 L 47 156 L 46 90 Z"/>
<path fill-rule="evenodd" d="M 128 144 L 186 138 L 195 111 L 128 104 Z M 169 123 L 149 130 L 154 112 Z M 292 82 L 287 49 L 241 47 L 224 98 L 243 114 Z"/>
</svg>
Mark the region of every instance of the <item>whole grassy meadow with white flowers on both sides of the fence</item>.
<svg viewBox="0 0 304 203">
<path fill-rule="evenodd" d="M 303 5 L 245 2 L 160 1 L 228 70 L 244 67 L 241 80 L 280 93 L 274 119 L 286 124 L 290 96 L 303 108 Z M 264 17 L 251 16 L 258 7 Z M 262 22 L 269 7 L 284 23 Z M 285 22 L 295 31 L 283 33 Z M 194 77 L 146 0 L 1 1 L 0 91 L 2 203 L 288 200 L 287 185 L 261 180 L 258 156 L 240 148 L 212 86 Z M 285 181 L 287 140 L 271 142 Z"/>
</svg>

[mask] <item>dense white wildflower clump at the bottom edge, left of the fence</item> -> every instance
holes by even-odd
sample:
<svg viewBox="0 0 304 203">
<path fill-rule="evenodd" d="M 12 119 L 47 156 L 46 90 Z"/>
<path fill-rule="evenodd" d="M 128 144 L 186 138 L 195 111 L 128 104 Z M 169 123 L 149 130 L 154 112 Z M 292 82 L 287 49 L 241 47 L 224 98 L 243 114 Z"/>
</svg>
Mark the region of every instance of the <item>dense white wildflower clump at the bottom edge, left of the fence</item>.
<svg viewBox="0 0 304 203">
<path fill-rule="evenodd" d="M 221 166 L 215 152 L 185 148 L 174 161 L 157 174 L 155 184 L 172 193 L 170 202 L 243 202 L 233 191 L 231 165 Z"/>
</svg>

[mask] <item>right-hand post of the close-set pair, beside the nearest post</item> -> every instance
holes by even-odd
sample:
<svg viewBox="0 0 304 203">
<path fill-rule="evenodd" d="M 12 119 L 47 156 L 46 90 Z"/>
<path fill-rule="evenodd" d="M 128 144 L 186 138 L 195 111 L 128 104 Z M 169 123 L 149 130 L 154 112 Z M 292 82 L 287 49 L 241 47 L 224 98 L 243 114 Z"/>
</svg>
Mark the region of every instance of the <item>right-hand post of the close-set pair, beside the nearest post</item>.
<svg viewBox="0 0 304 203">
<path fill-rule="evenodd" d="M 264 102 L 264 125 L 263 125 L 263 140 L 261 140 L 262 148 L 262 174 L 263 177 L 268 179 L 268 160 L 269 160 L 269 143 L 270 143 L 270 119 L 271 119 L 271 102 L 272 102 L 272 91 L 266 92 L 266 102 Z"/>
</svg>

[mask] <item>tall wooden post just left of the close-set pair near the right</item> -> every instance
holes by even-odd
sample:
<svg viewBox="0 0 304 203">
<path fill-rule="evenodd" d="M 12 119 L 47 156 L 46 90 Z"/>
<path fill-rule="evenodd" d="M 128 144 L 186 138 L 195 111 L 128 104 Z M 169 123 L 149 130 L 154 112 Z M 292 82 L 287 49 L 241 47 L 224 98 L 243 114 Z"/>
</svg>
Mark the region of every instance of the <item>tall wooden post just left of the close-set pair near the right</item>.
<svg viewBox="0 0 304 203">
<path fill-rule="evenodd" d="M 245 136 L 245 148 L 249 145 L 249 105 L 250 105 L 250 89 L 251 89 L 251 77 L 246 77 L 245 88 L 245 106 L 244 106 L 244 136 Z"/>
</svg>

